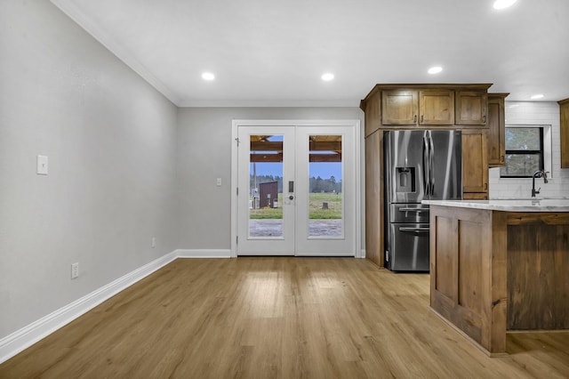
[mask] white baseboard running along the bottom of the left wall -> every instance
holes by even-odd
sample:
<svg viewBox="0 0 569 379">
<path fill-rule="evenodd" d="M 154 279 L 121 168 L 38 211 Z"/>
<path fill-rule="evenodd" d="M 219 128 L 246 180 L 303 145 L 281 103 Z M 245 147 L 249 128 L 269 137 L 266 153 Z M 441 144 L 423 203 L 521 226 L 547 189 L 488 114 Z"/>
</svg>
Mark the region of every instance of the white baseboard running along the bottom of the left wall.
<svg viewBox="0 0 569 379">
<path fill-rule="evenodd" d="M 101 302 L 108 300 L 128 286 L 132 286 L 140 279 L 147 277 L 176 258 L 178 258 L 176 251 L 165 254 L 155 261 L 149 262 L 121 278 L 117 278 L 108 285 L 100 287 L 91 294 L 86 294 L 75 302 L 71 302 L 59 310 L 53 311 L 26 327 L 22 327 L 20 330 L 12 333 L 12 335 L 5 336 L 0 339 L 0 363 L 12 358 L 20 351 L 28 349 L 29 346 L 37 343 L 47 335 L 51 335 L 60 329 L 60 327 L 64 327 L 87 311 L 92 310 Z"/>
</svg>

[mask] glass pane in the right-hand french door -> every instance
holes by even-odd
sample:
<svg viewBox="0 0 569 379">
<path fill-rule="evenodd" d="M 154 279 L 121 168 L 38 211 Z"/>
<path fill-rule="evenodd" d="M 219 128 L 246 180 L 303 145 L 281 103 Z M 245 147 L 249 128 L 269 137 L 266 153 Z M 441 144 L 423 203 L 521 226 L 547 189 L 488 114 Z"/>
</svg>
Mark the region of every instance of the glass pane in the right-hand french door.
<svg viewBox="0 0 569 379">
<path fill-rule="evenodd" d="M 342 236 L 341 135 L 309 135 L 309 237 Z"/>
</svg>

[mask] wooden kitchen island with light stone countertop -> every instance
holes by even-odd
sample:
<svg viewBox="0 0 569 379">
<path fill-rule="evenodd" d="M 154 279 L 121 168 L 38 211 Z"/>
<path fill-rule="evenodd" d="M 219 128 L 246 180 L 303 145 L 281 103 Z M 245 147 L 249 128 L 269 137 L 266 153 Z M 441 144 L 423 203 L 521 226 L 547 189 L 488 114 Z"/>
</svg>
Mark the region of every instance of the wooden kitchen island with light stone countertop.
<svg viewBox="0 0 569 379">
<path fill-rule="evenodd" d="M 430 307 L 490 356 L 569 330 L 569 200 L 428 200 Z"/>
</svg>

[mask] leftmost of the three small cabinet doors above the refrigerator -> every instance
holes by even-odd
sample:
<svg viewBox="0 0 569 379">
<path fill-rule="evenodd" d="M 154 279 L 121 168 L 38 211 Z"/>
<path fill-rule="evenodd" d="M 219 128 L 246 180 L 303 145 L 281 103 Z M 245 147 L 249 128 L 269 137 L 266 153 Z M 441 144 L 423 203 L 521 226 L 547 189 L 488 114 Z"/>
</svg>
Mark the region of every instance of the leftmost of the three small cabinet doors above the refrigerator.
<svg viewBox="0 0 569 379">
<path fill-rule="evenodd" d="M 419 108 L 417 91 L 383 91 L 381 95 L 381 124 L 416 125 Z"/>
</svg>

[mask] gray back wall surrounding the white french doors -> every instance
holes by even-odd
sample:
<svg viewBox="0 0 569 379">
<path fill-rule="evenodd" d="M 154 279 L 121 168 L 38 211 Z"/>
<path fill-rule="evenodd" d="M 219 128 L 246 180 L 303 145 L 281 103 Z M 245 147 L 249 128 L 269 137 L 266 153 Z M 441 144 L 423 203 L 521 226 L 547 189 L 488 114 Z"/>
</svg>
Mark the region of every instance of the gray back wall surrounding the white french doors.
<svg viewBox="0 0 569 379">
<path fill-rule="evenodd" d="M 364 112 L 358 108 L 180 109 L 177 218 L 182 249 L 231 247 L 231 123 L 234 119 L 360 119 L 363 127 Z M 222 179 L 221 187 L 216 187 L 216 178 Z"/>
</svg>

